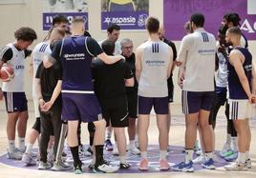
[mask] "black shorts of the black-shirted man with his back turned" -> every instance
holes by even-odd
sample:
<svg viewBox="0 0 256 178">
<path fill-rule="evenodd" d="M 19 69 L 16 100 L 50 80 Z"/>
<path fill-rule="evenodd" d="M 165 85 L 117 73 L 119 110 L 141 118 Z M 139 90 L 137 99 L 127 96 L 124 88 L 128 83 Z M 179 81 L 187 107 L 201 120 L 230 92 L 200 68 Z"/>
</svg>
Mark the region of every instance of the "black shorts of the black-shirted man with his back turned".
<svg viewBox="0 0 256 178">
<path fill-rule="evenodd" d="M 113 128 L 125 128 L 129 126 L 128 109 L 126 99 L 108 100 L 101 105 L 102 116 Z"/>
</svg>

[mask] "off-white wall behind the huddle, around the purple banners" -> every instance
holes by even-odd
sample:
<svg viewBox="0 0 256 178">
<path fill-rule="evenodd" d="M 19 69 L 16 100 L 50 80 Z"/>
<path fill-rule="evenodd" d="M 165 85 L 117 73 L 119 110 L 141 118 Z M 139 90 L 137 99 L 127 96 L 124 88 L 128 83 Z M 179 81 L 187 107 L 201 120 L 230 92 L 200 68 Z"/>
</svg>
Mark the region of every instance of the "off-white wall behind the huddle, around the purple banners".
<svg viewBox="0 0 256 178">
<path fill-rule="evenodd" d="M 149 0 L 150 15 L 156 16 L 163 21 L 163 0 Z M 42 0 L 25 0 L 26 4 L 22 5 L 0 5 L 0 17 L 2 20 L 0 28 L 0 47 L 14 41 L 13 31 L 22 26 L 29 26 L 36 30 L 38 40 L 33 43 L 33 46 L 45 37 L 46 32 L 42 30 Z M 100 0 L 89 0 L 89 31 L 96 40 L 106 38 L 106 32 L 100 30 Z M 171 19 L 170 19 L 171 20 Z M 146 38 L 145 31 L 121 31 L 120 39 L 131 38 L 134 41 L 135 47 L 138 47 Z M 180 42 L 175 41 L 177 49 L 180 47 Z M 249 42 L 249 49 L 256 56 L 256 41 Z M 29 60 L 26 64 L 26 80 L 25 88 L 28 98 L 32 98 L 32 79 L 29 75 Z M 177 84 L 177 69 L 174 72 L 174 83 Z M 175 102 L 181 103 L 181 91 L 176 85 Z"/>
</svg>

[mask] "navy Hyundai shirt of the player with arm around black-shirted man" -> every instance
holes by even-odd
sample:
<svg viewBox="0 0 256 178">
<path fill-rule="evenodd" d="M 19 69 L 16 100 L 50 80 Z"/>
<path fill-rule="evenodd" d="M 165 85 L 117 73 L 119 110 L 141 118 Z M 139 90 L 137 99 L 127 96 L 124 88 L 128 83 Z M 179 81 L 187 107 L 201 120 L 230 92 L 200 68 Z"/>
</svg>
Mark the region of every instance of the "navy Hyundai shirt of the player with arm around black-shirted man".
<svg viewBox="0 0 256 178">
<path fill-rule="evenodd" d="M 85 36 L 72 36 L 58 42 L 52 57 L 61 63 L 62 92 L 92 93 L 93 57 L 103 51 L 96 40 Z"/>
</svg>

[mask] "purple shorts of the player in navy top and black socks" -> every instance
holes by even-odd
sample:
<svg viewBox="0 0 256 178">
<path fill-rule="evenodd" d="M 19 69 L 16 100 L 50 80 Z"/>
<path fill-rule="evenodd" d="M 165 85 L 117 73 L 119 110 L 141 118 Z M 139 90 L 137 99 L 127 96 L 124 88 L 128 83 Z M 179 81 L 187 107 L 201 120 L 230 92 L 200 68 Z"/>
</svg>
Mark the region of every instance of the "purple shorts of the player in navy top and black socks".
<svg viewBox="0 0 256 178">
<path fill-rule="evenodd" d="M 95 122 L 102 119 L 95 94 L 62 93 L 62 120 Z"/>
</svg>

